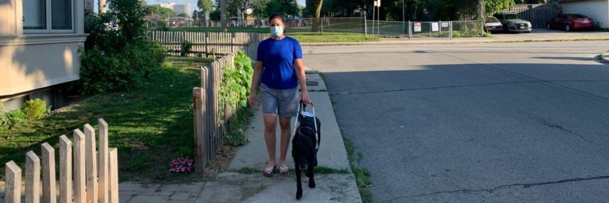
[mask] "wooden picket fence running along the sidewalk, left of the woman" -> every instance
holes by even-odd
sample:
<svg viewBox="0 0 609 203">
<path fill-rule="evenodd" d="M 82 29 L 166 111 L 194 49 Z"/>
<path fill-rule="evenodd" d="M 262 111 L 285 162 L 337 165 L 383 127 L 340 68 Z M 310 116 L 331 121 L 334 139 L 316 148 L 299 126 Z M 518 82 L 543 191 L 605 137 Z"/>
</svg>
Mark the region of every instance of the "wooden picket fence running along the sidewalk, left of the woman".
<svg viewBox="0 0 609 203">
<path fill-rule="evenodd" d="M 256 60 L 258 44 L 262 35 L 255 38 L 251 45 L 241 48 L 252 60 Z M 216 59 L 201 68 L 201 87 L 192 89 L 194 124 L 194 163 L 195 172 L 203 173 L 216 150 L 227 134 L 227 128 L 236 116 L 238 108 L 231 105 L 220 106 L 219 90 L 222 82 L 222 69 L 234 68 L 236 52 Z M 222 116 L 224 115 L 224 116 Z"/>
</svg>

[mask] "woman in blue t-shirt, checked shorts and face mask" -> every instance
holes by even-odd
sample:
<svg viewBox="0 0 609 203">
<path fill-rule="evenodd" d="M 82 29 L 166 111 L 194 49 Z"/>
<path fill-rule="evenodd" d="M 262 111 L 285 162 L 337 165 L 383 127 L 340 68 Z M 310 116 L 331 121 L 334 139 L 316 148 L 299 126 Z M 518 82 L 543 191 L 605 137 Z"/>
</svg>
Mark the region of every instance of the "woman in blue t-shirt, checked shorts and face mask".
<svg viewBox="0 0 609 203">
<path fill-rule="evenodd" d="M 311 104 L 300 43 L 285 35 L 283 16 L 273 14 L 269 23 L 272 36 L 258 45 L 258 59 L 249 98 L 250 105 L 256 105 L 256 90 L 259 87 L 264 114 L 264 141 L 269 151 L 269 162 L 263 172 L 267 177 L 273 176 L 277 166 L 280 174 L 289 172 L 286 154 L 290 143 L 290 120 L 297 115 L 298 84 L 301 89 L 300 102 Z M 281 129 L 279 165 L 275 162 L 277 119 Z"/>
</svg>

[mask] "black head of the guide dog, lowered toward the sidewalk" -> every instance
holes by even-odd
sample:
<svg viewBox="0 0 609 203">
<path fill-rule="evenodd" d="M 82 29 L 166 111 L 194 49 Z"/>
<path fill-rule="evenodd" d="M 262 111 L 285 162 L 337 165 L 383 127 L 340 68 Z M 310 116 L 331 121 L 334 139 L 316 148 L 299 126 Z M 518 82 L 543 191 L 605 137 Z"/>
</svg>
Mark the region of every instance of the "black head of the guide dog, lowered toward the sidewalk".
<svg viewBox="0 0 609 203">
<path fill-rule="evenodd" d="M 312 135 L 311 135 L 312 134 Z M 309 159 L 314 156 L 315 141 L 312 140 L 315 132 L 308 128 L 298 127 L 294 140 L 292 140 L 292 157 L 300 165 L 300 168 L 307 168 Z"/>
</svg>

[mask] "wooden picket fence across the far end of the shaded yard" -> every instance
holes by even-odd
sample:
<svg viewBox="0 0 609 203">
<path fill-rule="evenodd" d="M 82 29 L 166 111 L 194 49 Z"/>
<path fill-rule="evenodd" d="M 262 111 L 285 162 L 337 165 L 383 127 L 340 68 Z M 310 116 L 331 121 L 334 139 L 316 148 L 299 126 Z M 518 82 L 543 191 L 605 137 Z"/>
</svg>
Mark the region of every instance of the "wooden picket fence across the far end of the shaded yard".
<svg viewBox="0 0 609 203">
<path fill-rule="evenodd" d="M 180 55 L 182 43 L 186 40 L 192 43 L 188 56 L 215 57 L 231 54 L 244 46 L 258 40 L 262 34 L 258 33 L 224 33 L 224 32 L 186 32 L 186 31 L 150 31 L 148 37 L 158 41 L 167 50 L 169 55 Z"/>
</svg>

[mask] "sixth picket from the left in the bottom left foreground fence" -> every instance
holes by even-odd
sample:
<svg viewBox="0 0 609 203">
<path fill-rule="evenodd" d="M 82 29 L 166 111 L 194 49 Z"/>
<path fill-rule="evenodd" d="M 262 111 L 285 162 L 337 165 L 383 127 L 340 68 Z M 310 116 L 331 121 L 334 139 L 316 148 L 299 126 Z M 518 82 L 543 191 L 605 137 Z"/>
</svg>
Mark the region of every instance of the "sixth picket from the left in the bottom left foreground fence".
<svg viewBox="0 0 609 203">
<path fill-rule="evenodd" d="M 97 203 L 97 160 L 95 154 L 95 129 L 85 124 L 86 153 L 86 202 Z"/>
</svg>

